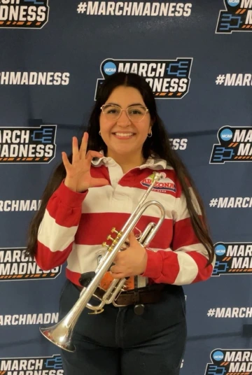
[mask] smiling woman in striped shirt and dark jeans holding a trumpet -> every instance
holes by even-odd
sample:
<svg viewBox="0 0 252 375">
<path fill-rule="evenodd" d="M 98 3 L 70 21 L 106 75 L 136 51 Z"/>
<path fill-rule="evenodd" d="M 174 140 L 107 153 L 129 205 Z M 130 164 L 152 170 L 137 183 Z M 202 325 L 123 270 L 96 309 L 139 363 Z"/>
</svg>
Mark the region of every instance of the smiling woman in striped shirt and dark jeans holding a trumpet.
<svg viewBox="0 0 252 375">
<path fill-rule="evenodd" d="M 170 146 L 151 87 L 136 74 L 113 74 L 100 87 L 79 146 L 73 137 L 72 154 L 62 153 L 29 227 L 27 253 L 41 269 L 67 261 L 60 319 L 80 295 L 80 276 L 97 268 L 101 244 L 112 227 L 123 227 L 155 171 L 162 184 L 148 199 L 165 207 L 162 227 L 148 248 L 132 232 L 116 255 L 98 291 L 108 278 L 127 277 L 117 301 L 124 306 L 106 305 L 98 315 L 84 309 L 73 334 L 76 352 L 62 351 L 64 374 L 178 375 L 186 344 L 181 285 L 207 280 L 214 265 L 202 201 Z M 136 231 L 158 217 L 149 207 Z M 90 303 L 99 304 L 95 297 Z"/>
</svg>

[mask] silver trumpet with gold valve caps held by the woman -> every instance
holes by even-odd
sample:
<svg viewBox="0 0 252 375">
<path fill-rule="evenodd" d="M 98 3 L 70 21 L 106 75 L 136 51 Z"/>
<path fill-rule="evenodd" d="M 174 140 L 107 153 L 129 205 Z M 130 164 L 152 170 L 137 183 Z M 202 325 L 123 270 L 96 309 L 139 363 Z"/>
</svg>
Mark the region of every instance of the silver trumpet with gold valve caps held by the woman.
<svg viewBox="0 0 252 375">
<path fill-rule="evenodd" d="M 52 344 L 55 344 L 65 351 L 74 352 L 76 348 L 71 342 L 71 337 L 77 320 L 85 307 L 94 311 L 94 313 L 102 313 L 102 311 L 104 311 L 103 308 L 106 304 L 112 303 L 114 304 L 114 306 L 118 306 L 116 304 L 116 299 L 123 291 L 123 286 L 125 285 L 126 278 L 122 278 L 119 280 L 114 279 L 109 285 L 109 288 L 106 290 L 106 292 L 104 292 L 104 295 L 99 298 L 101 300 L 101 303 L 99 305 L 93 306 L 89 303 L 89 301 L 93 296 L 95 297 L 95 290 L 97 290 L 97 288 L 99 287 L 99 283 L 102 281 L 104 274 L 106 274 L 106 272 L 109 271 L 110 267 L 112 266 L 113 260 L 115 259 L 117 253 L 123 250 L 123 247 L 125 247 L 125 243 L 127 243 L 127 237 L 130 235 L 130 232 L 132 232 L 134 227 L 137 225 L 137 222 L 141 218 L 141 215 L 143 215 L 144 211 L 146 211 L 146 208 L 151 205 L 157 206 L 160 209 L 160 219 L 158 220 L 158 223 L 150 222 L 137 240 L 139 241 L 141 246 L 146 247 L 152 241 L 156 232 L 158 232 L 158 229 L 160 229 L 160 226 L 165 219 L 165 208 L 158 201 L 146 201 L 148 194 L 151 192 L 151 190 L 155 186 L 155 183 L 157 183 L 160 178 L 162 178 L 162 174 L 154 174 L 151 185 L 148 187 L 148 190 L 146 190 L 143 197 L 141 197 L 137 208 L 135 208 L 132 215 L 130 215 L 130 218 L 127 220 L 123 228 L 120 231 L 117 231 L 115 228 L 111 230 L 112 233 L 116 233 L 116 238 L 113 238 L 110 235 L 107 238 L 112 240 L 111 245 L 108 245 L 106 242 L 102 243 L 102 246 L 106 248 L 106 253 L 102 257 L 102 260 L 100 260 L 97 269 L 91 273 L 93 276 L 92 280 L 80 292 L 80 296 L 76 304 L 73 305 L 69 313 L 67 313 L 66 316 L 62 318 L 62 320 L 60 320 L 52 327 L 39 328 L 41 334 L 43 334 L 46 339 L 51 341 Z"/>
</svg>

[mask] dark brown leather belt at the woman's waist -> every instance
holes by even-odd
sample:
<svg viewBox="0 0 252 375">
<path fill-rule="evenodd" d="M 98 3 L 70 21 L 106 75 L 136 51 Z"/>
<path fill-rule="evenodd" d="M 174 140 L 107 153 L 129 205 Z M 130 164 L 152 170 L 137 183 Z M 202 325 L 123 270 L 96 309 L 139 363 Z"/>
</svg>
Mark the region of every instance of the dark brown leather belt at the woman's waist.
<svg viewBox="0 0 252 375">
<path fill-rule="evenodd" d="M 83 287 L 75 285 L 78 290 L 83 290 Z M 130 306 L 139 304 L 155 304 L 160 301 L 162 290 L 165 289 L 164 284 L 147 285 L 145 288 L 128 290 L 121 292 L 119 297 L 115 300 L 114 306 Z M 105 291 L 97 288 L 94 292 L 94 297 L 101 300 Z"/>
</svg>

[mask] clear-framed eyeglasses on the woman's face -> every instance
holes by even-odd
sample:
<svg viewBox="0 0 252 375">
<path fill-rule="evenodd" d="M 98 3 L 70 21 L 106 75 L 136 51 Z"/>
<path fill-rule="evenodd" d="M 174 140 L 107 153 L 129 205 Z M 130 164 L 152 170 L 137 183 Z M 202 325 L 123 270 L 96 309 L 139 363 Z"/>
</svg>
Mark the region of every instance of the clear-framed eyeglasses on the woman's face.
<svg viewBox="0 0 252 375">
<path fill-rule="evenodd" d="M 104 104 L 102 107 L 102 113 L 104 113 L 107 120 L 116 121 L 120 118 L 123 111 L 126 111 L 127 117 L 132 122 L 140 122 L 144 119 L 144 116 L 148 112 L 148 108 L 144 106 L 130 106 L 127 109 L 122 109 L 120 106 L 115 104 Z"/>
</svg>

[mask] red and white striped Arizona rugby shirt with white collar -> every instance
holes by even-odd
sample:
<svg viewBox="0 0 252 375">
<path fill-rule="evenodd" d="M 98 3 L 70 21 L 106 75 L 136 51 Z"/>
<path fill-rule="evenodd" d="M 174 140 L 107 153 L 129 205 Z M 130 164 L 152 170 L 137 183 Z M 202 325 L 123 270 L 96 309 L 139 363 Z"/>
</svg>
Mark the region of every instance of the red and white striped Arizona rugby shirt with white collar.
<svg viewBox="0 0 252 375">
<path fill-rule="evenodd" d="M 73 192 L 62 181 L 50 197 L 38 229 L 38 266 L 49 270 L 67 261 L 66 277 L 80 285 L 80 274 L 97 268 L 106 251 L 102 242 L 112 227 L 121 229 L 139 204 L 153 171 L 159 171 L 165 178 L 155 185 L 147 200 L 157 200 L 165 207 L 165 220 L 146 250 L 148 261 L 142 276 L 148 283 L 175 285 L 207 280 L 214 262 L 205 267 L 207 250 L 195 236 L 175 171 L 165 160 L 153 158 L 126 174 L 111 157 L 93 160 L 92 176 L 106 178 L 109 185 L 92 187 L 86 192 Z M 193 192 L 192 197 L 195 201 Z M 195 207 L 200 213 L 197 201 Z M 143 231 L 149 222 L 158 222 L 159 217 L 159 209 L 150 206 L 137 228 Z"/>
</svg>

